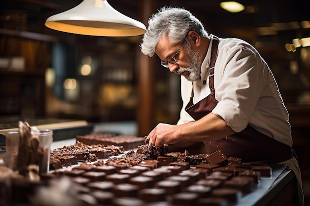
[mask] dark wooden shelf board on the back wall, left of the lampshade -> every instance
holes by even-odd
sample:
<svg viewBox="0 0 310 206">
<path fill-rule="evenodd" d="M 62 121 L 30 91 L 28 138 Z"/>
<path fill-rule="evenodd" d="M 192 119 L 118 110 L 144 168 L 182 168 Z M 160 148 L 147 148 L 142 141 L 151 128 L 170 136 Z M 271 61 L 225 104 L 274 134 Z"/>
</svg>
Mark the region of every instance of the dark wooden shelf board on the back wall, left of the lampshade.
<svg viewBox="0 0 310 206">
<path fill-rule="evenodd" d="M 29 39 L 29 40 L 37 40 L 37 41 L 50 41 L 50 42 L 58 41 L 58 38 L 52 35 L 45 35 L 45 34 L 39 34 L 39 33 L 33 33 L 33 32 L 24 32 L 24 31 L 14 31 L 14 30 L 8 30 L 8 29 L 0 29 L 0 35 L 24 38 L 24 39 Z"/>
</svg>

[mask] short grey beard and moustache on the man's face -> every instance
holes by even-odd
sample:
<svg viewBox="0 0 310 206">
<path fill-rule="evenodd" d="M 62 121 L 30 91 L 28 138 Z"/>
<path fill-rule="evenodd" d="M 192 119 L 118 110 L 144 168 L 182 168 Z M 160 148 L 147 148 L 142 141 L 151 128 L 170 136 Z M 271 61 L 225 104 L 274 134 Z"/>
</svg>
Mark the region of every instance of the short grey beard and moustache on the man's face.
<svg viewBox="0 0 310 206">
<path fill-rule="evenodd" d="M 184 77 L 190 81 L 195 82 L 200 80 L 200 73 L 201 73 L 201 64 L 202 61 L 200 60 L 199 50 L 195 51 L 191 47 L 188 48 L 188 67 L 179 67 L 175 73 L 180 75 L 182 72 L 188 72 Z"/>
</svg>

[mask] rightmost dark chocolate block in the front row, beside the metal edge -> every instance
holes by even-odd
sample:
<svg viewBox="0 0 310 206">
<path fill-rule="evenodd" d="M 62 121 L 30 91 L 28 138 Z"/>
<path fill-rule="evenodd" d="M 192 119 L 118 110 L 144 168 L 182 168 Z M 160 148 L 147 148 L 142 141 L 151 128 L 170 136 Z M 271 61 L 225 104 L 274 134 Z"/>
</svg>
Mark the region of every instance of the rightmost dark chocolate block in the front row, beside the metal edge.
<svg viewBox="0 0 310 206">
<path fill-rule="evenodd" d="M 211 197 L 224 198 L 228 203 L 236 204 L 241 198 L 241 192 L 236 189 L 216 188 L 212 190 Z"/>
</svg>

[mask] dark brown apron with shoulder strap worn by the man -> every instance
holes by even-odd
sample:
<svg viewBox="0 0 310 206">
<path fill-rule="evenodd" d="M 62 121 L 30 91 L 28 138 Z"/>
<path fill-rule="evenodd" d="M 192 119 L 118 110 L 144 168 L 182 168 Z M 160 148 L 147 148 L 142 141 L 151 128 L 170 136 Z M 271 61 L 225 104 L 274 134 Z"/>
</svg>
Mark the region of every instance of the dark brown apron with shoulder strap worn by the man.
<svg viewBox="0 0 310 206">
<path fill-rule="evenodd" d="M 194 89 L 185 111 L 194 119 L 199 120 L 209 114 L 218 101 L 214 90 L 214 65 L 217 57 L 218 39 L 212 41 L 212 52 L 209 69 L 209 88 L 211 93 L 195 105 L 193 104 Z M 220 140 L 204 142 L 207 151 L 213 153 L 221 150 L 227 157 L 242 158 L 244 162 L 280 163 L 293 157 L 294 151 L 284 143 L 276 141 L 250 126 L 231 136 Z"/>
</svg>

